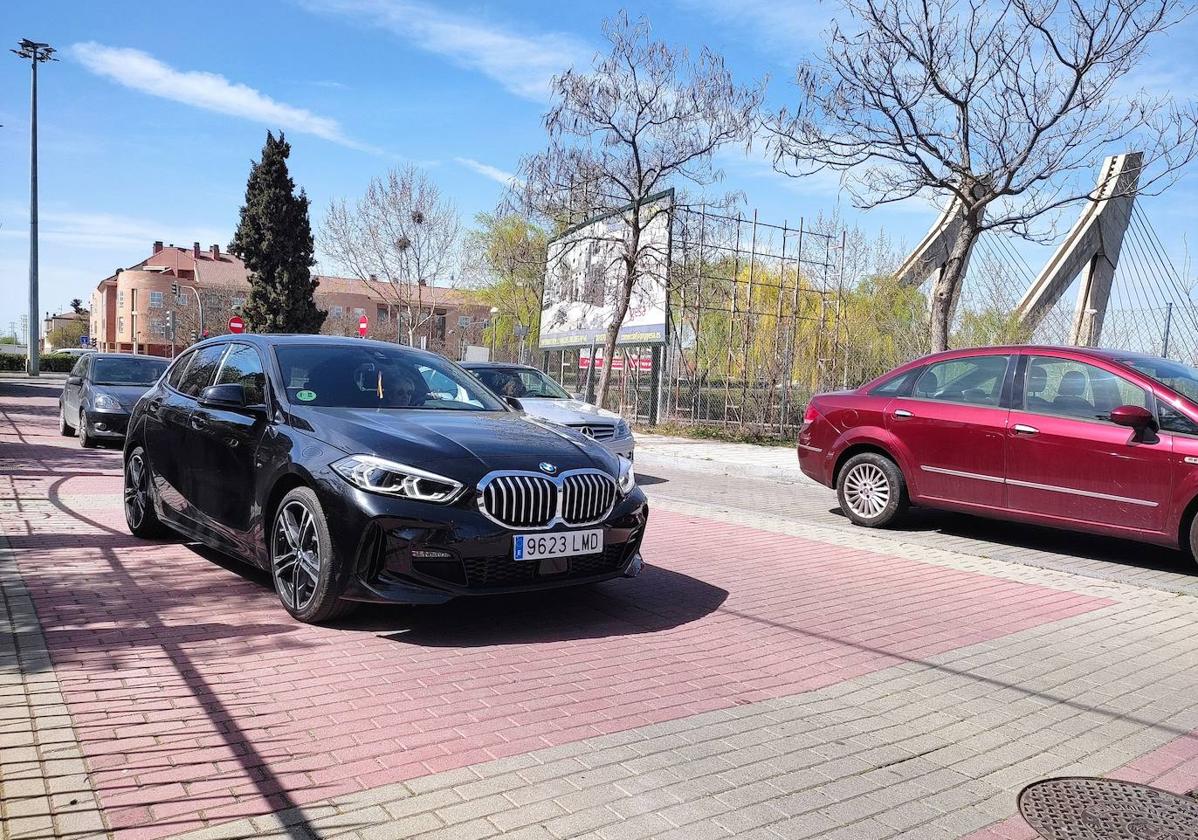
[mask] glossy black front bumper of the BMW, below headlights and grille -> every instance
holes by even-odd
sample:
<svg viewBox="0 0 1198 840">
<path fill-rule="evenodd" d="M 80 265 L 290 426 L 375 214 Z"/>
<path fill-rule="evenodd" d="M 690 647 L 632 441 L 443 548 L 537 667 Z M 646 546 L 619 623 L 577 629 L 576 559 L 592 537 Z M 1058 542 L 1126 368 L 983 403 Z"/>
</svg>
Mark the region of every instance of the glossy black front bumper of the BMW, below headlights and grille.
<svg viewBox="0 0 1198 840">
<path fill-rule="evenodd" d="M 328 488 L 329 485 L 325 485 Z M 640 489 L 617 502 L 601 524 L 604 549 L 562 561 L 515 561 L 519 531 L 496 525 L 468 504 L 437 508 L 337 488 L 329 516 L 343 557 L 352 557 L 343 597 L 350 600 L 441 604 L 462 596 L 553 590 L 640 572 L 648 504 Z M 429 521 L 430 508 L 440 521 Z M 329 508 L 326 501 L 326 510 Z M 418 514 L 418 515 L 412 515 Z M 335 525 L 334 525 L 335 524 Z M 552 528 L 570 531 L 567 526 Z M 579 528 L 580 530 L 580 528 Z"/>
</svg>

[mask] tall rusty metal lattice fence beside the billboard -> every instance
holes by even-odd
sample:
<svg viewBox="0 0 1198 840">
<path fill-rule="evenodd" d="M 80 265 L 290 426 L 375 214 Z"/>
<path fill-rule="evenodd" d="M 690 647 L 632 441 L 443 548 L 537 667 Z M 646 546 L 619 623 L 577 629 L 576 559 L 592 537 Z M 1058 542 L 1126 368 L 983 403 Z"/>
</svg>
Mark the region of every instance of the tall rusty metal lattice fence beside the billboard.
<svg viewBox="0 0 1198 840">
<path fill-rule="evenodd" d="M 678 205 L 668 276 L 670 342 L 660 393 L 649 348 L 624 348 L 607 407 L 647 421 L 786 435 L 810 395 L 853 379 L 841 302 L 842 230 L 772 224 Z M 588 350 L 547 355 L 547 370 L 587 393 Z"/>
</svg>

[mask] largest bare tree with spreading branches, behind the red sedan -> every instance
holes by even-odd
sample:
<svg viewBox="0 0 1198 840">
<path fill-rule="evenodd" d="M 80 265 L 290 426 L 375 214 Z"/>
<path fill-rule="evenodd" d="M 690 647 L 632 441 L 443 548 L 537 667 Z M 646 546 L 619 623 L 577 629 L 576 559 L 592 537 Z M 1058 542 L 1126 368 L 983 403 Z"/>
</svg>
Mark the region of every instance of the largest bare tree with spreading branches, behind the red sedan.
<svg viewBox="0 0 1198 840">
<path fill-rule="evenodd" d="M 803 104 L 768 121 L 780 168 L 846 171 L 859 207 L 932 195 L 962 224 L 932 290 L 948 348 L 969 250 L 988 229 L 1035 237 L 1045 213 L 1091 194 L 1101 156 L 1144 152 L 1138 192 L 1196 153 L 1190 103 L 1131 90 L 1184 0 L 842 0 L 823 58 L 800 65 Z"/>
</svg>

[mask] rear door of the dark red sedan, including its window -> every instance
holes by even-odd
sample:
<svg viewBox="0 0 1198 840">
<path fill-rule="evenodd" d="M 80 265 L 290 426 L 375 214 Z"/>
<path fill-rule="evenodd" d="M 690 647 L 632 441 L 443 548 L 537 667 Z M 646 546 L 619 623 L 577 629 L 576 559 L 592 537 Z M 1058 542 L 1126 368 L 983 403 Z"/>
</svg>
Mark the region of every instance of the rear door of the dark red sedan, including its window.
<svg viewBox="0 0 1198 840">
<path fill-rule="evenodd" d="M 1004 386 L 1011 356 L 963 356 L 927 367 L 910 397 L 894 399 L 887 427 L 907 449 L 912 492 L 964 507 L 1006 504 Z"/>
</svg>

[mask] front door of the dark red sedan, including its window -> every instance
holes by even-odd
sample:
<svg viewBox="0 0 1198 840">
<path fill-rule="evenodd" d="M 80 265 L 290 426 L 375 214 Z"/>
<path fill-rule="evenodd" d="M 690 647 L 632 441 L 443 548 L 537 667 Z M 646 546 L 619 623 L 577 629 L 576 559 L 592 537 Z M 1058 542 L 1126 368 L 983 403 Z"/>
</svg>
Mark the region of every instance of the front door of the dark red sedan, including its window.
<svg viewBox="0 0 1198 840">
<path fill-rule="evenodd" d="M 1078 524 L 1161 532 L 1169 514 L 1172 437 L 1108 419 L 1152 397 L 1099 364 L 1029 356 L 1006 437 L 1008 503 Z"/>
</svg>

